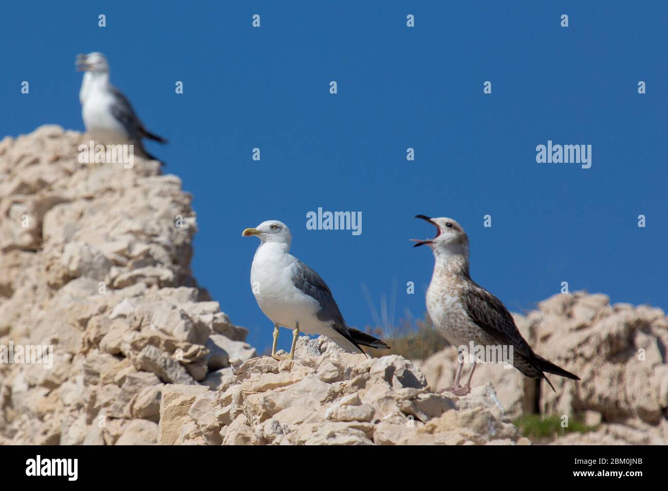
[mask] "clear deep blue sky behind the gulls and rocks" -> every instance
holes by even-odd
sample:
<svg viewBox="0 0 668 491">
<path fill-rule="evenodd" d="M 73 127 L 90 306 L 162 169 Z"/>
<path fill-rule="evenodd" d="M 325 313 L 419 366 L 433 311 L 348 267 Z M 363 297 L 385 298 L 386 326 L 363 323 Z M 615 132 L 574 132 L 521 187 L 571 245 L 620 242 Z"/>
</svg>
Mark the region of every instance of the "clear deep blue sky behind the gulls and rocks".
<svg viewBox="0 0 668 491">
<path fill-rule="evenodd" d="M 358 327 L 373 324 L 363 283 L 376 308 L 397 285 L 395 318 L 424 315 L 433 261 L 408 239 L 433 228 L 415 214 L 458 220 L 472 277 L 512 311 L 562 281 L 668 309 L 667 27 L 661 1 L 5 3 L 0 137 L 83 130 L 75 55 L 104 52 L 170 140 L 149 151 L 194 194 L 194 275 L 260 351 L 271 323 L 241 231 L 269 218 Z M 538 164 L 548 140 L 591 144 L 591 168 Z M 361 235 L 307 230 L 319 207 L 362 212 Z"/>
</svg>

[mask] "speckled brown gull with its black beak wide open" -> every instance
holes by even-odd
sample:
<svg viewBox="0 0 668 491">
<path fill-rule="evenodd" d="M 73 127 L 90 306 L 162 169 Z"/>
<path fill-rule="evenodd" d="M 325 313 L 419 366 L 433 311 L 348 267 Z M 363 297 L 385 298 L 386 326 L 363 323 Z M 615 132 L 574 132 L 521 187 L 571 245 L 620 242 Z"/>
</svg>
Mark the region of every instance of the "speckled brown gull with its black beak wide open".
<svg viewBox="0 0 668 491">
<path fill-rule="evenodd" d="M 422 218 L 436 226 L 436 237 L 411 240 L 418 242 L 413 247 L 427 244 L 434 252 L 436 266 L 427 290 L 427 311 L 436 329 L 452 345 L 468 347 L 473 341 L 476 346 L 512 346 L 512 358 L 509 360 L 512 365 L 527 377 L 545 379 L 555 392 L 544 371 L 580 379 L 534 353 L 501 301 L 471 279 L 468 273 L 468 236 L 460 224 L 452 218 L 429 218 L 424 215 L 415 218 Z M 471 391 L 476 361 L 474 359 L 465 387 L 460 385 L 464 367 L 461 352 L 458 361 L 454 385 L 445 390 L 466 395 Z"/>
</svg>

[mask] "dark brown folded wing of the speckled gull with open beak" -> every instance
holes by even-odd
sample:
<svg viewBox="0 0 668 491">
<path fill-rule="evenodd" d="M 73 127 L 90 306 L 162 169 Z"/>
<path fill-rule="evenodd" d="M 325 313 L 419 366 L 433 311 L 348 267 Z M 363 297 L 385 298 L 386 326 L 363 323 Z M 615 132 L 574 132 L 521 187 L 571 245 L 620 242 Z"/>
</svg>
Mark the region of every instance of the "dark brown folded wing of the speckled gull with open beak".
<svg viewBox="0 0 668 491">
<path fill-rule="evenodd" d="M 466 310 L 469 317 L 483 331 L 502 345 L 512 346 L 513 351 L 533 359 L 533 350 L 526 343 L 503 303 L 491 293 L 476 285 L 466 292 Z"/>
</svg>

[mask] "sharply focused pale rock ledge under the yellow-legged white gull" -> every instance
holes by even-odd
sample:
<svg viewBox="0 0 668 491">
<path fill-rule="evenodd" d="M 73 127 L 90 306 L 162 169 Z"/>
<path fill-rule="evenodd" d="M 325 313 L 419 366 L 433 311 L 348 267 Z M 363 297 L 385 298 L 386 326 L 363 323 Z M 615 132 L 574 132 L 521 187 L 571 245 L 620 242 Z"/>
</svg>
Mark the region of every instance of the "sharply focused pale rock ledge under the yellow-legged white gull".
<svg viewBox="0 0 668 491">
<path fill-rule="evenodd" d="M 297 341 L 295 360 L 232 361 L 213 391 L 167 385 L 160 444 L 530 444 L 510 424 L 491 385 L 466 397 L 426 388 L 397 355 L 366 358 L 325 337 Z"/>
</svg>

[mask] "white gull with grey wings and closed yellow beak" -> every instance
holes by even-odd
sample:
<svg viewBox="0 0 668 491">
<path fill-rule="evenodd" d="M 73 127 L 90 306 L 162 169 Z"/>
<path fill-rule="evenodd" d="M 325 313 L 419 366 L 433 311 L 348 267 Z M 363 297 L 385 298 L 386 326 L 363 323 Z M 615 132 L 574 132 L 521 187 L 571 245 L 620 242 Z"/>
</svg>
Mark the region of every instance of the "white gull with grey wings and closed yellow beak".
<svg viewBox="0 0 668 491">
<path fill-rule="evenodd" d="M 347 327 L 325 281 L 289 254 L 292 235 L 285 223 L 267 220 L 242 232 L 244 237 L 253 235 L 261 244 L 251 266 L 251 288 L 257 305 L 274 323 L 272 357 L 280 359 L 279 327 L 293 329 L 289 359 L 295 358 L 299 331 L 325 335 L 347 351 L 364 353 L 360 346 L 389 348 L 380 339 Z"/>
</svg>

